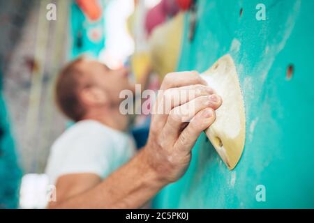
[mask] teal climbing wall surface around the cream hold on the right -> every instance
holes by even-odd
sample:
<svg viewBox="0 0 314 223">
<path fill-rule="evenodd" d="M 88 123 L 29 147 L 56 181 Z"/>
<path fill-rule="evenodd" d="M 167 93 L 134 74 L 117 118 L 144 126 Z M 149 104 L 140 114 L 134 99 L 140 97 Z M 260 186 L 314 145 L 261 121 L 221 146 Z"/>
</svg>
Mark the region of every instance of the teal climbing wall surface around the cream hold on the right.
<svg viewBox="0 0 314 223">
<path fill-rule="evenodd" d="M 266 21 L 255 19 L 257 3 Z M 202 72 L 232 55 L 246 145 L 229 171 L 202 134 L 188 171 L 158 194 L 155 208 L 314 208 L 313 10 L 312 0 L 199 0 L 191 43 L 187 13 L 178 70 Z M 257 201 L 257 185 L 266 201 Z"/>
</svg>

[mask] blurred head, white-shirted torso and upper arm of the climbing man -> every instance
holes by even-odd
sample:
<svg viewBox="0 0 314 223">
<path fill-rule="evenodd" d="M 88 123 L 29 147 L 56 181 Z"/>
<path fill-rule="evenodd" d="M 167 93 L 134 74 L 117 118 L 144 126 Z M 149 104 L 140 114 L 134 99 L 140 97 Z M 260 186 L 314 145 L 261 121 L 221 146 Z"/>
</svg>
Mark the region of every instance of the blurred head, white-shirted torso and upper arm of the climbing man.
<svg viewBox="0 0 314 223">
<path fill-rule="evenodd" d="M 119 112 L 120 91 L 133 88 L 128 70 L 98 61 L 80 58 L 61 71 L 57 105 L 76 123 L 55 141 L 47 164 L 59 199 L 94 187 L 134 155 L 129 118 Z"/>
</svg>

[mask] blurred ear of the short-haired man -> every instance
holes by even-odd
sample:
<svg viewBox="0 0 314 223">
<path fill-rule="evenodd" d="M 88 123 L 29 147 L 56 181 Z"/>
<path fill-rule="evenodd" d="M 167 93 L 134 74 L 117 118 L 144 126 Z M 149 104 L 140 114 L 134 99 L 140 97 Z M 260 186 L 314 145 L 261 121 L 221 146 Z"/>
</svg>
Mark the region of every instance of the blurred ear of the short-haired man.
<svg viewBox="0 0 314 223">
<path fill-rule="evenodd" d="M 82 103 L 87 106 L 104 106 L 109 102 L 107 93 L 97 87 L 83 89 L 80 98 Z"/>
</svg>

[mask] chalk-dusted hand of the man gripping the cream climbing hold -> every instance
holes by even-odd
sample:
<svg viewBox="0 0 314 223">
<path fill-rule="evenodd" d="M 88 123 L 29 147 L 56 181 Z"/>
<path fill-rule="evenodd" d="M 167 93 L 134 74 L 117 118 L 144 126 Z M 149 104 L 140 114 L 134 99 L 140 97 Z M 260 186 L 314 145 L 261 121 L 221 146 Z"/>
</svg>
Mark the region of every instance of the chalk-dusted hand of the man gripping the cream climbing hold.
<svg viewBox="0 0 314 223">
<path fill-rule="evenodd" d="M 214 110 L 220 107 L 222 99 L 197 72 L 170 73 L 160 90 L 163 92 L 158 94 L 154 106 L 144 150 L 160 180 L 172 183 L 185 173 L 191 149 L 201 132 L 215 121 Z M 184 97 L 187 92 L 189 97 Z"/>
</svg>

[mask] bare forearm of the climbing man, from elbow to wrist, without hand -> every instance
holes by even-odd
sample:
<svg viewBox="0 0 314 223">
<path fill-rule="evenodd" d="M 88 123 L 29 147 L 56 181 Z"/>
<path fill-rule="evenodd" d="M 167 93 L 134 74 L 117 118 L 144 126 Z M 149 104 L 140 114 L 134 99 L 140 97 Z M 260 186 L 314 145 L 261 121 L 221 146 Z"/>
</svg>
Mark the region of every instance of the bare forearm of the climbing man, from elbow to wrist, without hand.
<svg viewBox="0 0 314 223">
<path fill-rule="evenodd" d="M 166 185 L 147 162 L 145 148 L 93 189 L 55 208 L 140 208 Z"/>
</svg>

